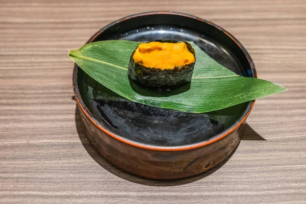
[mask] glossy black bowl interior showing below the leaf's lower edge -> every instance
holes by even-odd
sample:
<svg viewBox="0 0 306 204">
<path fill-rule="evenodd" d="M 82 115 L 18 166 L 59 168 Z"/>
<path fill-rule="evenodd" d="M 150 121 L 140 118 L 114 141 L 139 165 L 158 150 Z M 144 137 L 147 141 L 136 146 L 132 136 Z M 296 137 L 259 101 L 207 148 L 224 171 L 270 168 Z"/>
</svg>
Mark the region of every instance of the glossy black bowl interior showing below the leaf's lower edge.
<svg viewBox="0 0 306 204">
<path fill-rule="evenodd" d="M 192 114 L 134 103 L 89 77 L 87 85 L 95 99 L 87 98 L 86 106 L 98 121 L 117 135 L 148 145 L 191 145 L 209 140 L 232 125 L 248 104 Z"/>
</svg>

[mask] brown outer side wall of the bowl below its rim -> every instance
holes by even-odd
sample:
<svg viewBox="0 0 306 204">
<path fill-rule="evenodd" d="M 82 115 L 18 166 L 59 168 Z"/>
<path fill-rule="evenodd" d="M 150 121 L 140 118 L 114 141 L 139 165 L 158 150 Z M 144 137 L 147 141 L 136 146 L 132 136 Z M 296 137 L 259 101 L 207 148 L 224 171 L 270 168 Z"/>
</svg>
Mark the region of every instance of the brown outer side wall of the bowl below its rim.
<svg viewBox="0 0 306 204">
<path fill-rule="evenodd" d="M 206 171 L 223 161 L 240 141 L 241 124 L 226 137 L 209 145 L 181 151 L 144 149 L 110 137 L 79 109 L 90 142 L 110 163 L 150 179 L 180 179 Z"/>
</svg>

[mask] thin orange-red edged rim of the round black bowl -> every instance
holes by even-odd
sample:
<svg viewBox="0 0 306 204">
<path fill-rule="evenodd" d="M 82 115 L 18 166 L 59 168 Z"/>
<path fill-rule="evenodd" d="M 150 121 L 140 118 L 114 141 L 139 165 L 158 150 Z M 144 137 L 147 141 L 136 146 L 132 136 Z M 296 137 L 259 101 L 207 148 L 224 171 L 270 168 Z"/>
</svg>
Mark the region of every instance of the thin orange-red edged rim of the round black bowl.
<svg viewBox="0 0 306 204">
<path fill-rule="evenodd" d="M 189 15 L 189 14 L 185 14 L 185 13 L 178 13 L 178 12 L 172 12 L 172 11 L 156 11 L 156 12 L 145 12 L 145 13 L 138 13 L 138 14 L 134 14 L 134 15 L 130 15 L 130 16 L 126 16 L 123 17 L 119 20 L 113 21 L 111 23 L 109 23 L 108 25 L 106 25 L 105 27 L 101 28 L 99 31 L 97 31 L 85 44 L 92 42 L 98 35 L 100 35 L 101 33 L 103 33 L 105 30 L 107 30 L 108 28 L 114 26 L 115 24 L 122 22 L 124 20 L 128 20 L 131 18 L 136 18 L 136 17 L 140 17 L 140 16 L 146 16 L 146 15 L 177 15 L 177 16 L 184 16 L 187 18 L 192 18 L 192 19 L 196 19 L 199 20 L 201 22 L 207 23 L 212 25 L 213 27 L 215 27 L 216 29 L 220 30 L 221 32 L 223 32 L 224 34 L 226 34 L 228 37 L 230 37 L 241 49 L 241 51 L 243 52 L 243 54 L 245 55 L 246 59 L 249 62 L 249 65 L 251 67 L 251 71 L 252 71 L 252 77 L 253 78 L 257 78 L 257 72 L 256 72 L 256 68 L 254 66 L 254 63 L 250 57 L 250 55 L 248 54 L 248 52 L 246 51 L 246 49 L 244 48 L 244 46 L 230 33 L 228 33 L 226 30 L 224 30 L 223 28 L 219 27 L 218 25 L 214 24 L 213 22 L 210 22 L 208 20 L 193 16 L 193 15 Z M 88 110 L 88 108 L 86 107 L 80 91 L 79 91 L 79 87 L 78 87 L 78 65 L 76 63 L 74 63 L 74 68 L 73 68 L 73 73 L 72 73 L 72 87 L 73 87 L 73 92 L 74 92 L 74 96 L 75 99 L 77 100 L 77 103 L 79 105 L 79 107 L 81 108 L 81 110 L 83 111 L 83 113 L 86 115 L 86 117 L 95 125 L 98 127 L 98 129 L 100 129 L 101 131 L 103 131 L 104 133 L 106 133 L 107 135 L 113 137 L 114 139 L 117 139 L 123 143 L 132 145 L 132 146 L 136 146 L 136 147 L 140 147 L 143 149 L 150 149 L 150 150 L 158 150 L 158 151 L 181 151 L 181 150 L 189 150 L 189 149 L 194 149 L 194 148 L 198 148 L 198 147 L 202 147 L 202 146 L 206 146 L 209 145 L 213 142 L 216 142 L 222 138 L 224 138 L 225 136 L 227 136 L 228 134 L 232 133 L 233 131 L 235 131 L 241 124 L 243 124 L 246 120 L 246 118 L 248 117 L 248 115 L 250 114 L 255 100 L 252 100 L 249 102 L 247 108 L 245 109 L 245 111 L 243 112 L 243 114 L 239 117 L 239 119 L 232 124 L 231 126 L 227 127 L 227 129 L 223 130 L 221 133 L 216 134 L 214 137 L 212 137 L 212 139 L 205 141 L 205 142 L 198 142 L 195 144 L 188 144 L 188 145 L 179 145 L 179 146 L 157 146 L 157 145 L 148 145 L 148 144 L 143 144 L 140 142 L 136 142 L 127 138 L 123 138 L 115 133 L 112 133 L 111 130 L 107 130 L 107 127 L 104 127 L 93 115 L 92 113 Z"/>
</svg>

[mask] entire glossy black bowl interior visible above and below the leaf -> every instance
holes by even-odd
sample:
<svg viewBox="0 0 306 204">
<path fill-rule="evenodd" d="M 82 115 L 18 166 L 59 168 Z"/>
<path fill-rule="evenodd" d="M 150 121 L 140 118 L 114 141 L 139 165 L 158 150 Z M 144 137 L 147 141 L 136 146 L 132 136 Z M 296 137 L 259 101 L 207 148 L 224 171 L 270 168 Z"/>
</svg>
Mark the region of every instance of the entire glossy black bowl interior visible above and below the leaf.
<svg viewBox="0 0 306 204">
<path fill-rule="evenodd" d="M 151 14 L 133 17 L 109 25 L 91 40 L 109 39 L 193 41 L 235 73 L 244 77 L 253 74 L 245 55 L 230 37 L 208 23 L 186 16 Z M 182 146 L 211 140 L 237 124 L 251 105 L 248 102 L 203 114 L 150 107 L 122 100 L 80 68 L 78 87 L 88 110 L 106 130 L 150 146 Z"/>
</svg>

